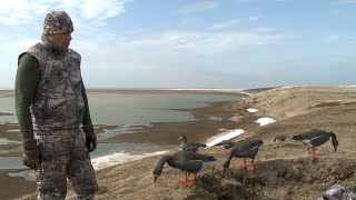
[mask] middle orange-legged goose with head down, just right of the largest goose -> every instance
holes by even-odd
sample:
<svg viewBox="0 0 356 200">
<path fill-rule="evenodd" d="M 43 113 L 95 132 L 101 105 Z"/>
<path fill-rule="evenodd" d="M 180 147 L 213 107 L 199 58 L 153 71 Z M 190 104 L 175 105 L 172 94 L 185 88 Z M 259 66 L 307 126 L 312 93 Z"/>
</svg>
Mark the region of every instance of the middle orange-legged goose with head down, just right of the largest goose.
<svg viewBox="0 0 356 200">
<path fill-rule="evenodd" d="M 244 158 L 239 166 L 246 168 L 248 171 L 254 171 L 255 169 L 255 157 L 258 153 L 259 147 L 264 143 L 263 140 L 245 139 L 236 142 L 234 147 L 229 150 L 229 154 L 224 162 L 224 174 L 227 168 L 230 166 L 233 157 Z M 251 158 L 250 164 L 246 166 L 246 158 Z"/>
</svg>

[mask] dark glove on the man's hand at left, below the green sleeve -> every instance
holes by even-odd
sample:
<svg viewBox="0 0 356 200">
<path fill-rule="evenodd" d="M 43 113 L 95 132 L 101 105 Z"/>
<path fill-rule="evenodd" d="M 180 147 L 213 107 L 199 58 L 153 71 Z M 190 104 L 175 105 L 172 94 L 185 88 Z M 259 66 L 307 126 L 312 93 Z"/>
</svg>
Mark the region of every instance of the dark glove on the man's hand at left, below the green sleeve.
<svg viewBox="0 0 356 200">
<path fill-rule="evenodd" d="M 22 142 L 23 153 L 22 161 L 23 164 L 29 167 L 30 169 L 39 169 L 41 164 L 41 152 L 37 146 L 37 141 L 34 139 L 27 139 Z"/>
</svg>

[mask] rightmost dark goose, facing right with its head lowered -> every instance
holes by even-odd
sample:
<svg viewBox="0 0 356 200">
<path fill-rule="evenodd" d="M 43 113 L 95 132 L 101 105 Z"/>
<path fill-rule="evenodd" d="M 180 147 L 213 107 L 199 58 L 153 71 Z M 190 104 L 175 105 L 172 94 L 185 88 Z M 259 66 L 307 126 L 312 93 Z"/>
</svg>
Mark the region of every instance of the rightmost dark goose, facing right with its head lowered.
<svg viewBox="0 0 356 200">
<path fill-rule="evenodd" d="M 307 132 L 293 136 L 290 140 L 296 140 L 307 146 L 308 153 L 312 154 L 312 158 L 314 158 L 320 156 L 320 153 L 315 151 L 315 147 L 322 146 L 323 143 L 327 142 L 330 137 L 334 150 L 336 152 L 338 141 L 336 139 L 335 132 L 333 131 L 327 132 L 325 130 L 313 129 Z"/>
</svg>

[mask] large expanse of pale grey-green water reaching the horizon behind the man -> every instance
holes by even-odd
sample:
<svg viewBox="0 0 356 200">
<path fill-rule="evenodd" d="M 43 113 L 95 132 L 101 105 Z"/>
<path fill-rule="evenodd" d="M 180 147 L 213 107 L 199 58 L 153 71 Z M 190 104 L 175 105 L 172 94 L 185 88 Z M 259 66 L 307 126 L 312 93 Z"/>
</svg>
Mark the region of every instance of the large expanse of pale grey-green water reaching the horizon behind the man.
<svg viewBox="0 0 356 200">
<path fill-rule="evenodd" d="M 135 126 L 151 122 L 177 122 L 194 120 L 188 111 L 209 102 L 230 101 L 243 94 L 151 94 L 151 93 L 88 93 L 92 122 L 96 124 Z M 13 97 L 0 98 L 0 123 L 17 123 Z"/>
</svg>

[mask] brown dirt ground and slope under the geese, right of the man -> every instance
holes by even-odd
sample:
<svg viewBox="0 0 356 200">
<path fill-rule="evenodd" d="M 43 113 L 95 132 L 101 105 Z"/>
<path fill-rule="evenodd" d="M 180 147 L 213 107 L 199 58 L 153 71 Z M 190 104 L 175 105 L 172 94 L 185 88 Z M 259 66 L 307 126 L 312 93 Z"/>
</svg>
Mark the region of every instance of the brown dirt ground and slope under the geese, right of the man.
<svg viewBox="0 0 356 200">
<path fill-rule="evenodd" d="M 160 157 L 113 166 L 97 171 L 99 191 L 96 199 L 317 199 L 340 183 L 356 191 L 356 88 L 355 87 L 283 87 L 268 90 L 248 90 L 251 96 L 238 101 L 212 103 L 194 110 L 195 122 L 156 123 L 140 133 L 119 136 L 110 141 L 150 142 L 162 144 L 172 153 L 179 148 L 180 133 L 188 140 L 205 142 L 225 130 L 244 129 L 235 138 L 258 138 L 264 144 L 256 157 L 254 173 L 238 167 L 234 158 L 222 177 L 226 159 L 219 148 L 207 148 L 199 153 L 211 154 L 217 161 L 198 173 L 190 188 L 178 180 L 185 173 L 166 164 L 154 182 L 152 169 Z M 250 113 L 246 109 L 255 108 Z M 222 120 L 211 121 L 210 117 Z M 258 118 L 269 117 L 276 122 L 259 126 Z M 339 147 L 334 152 L 328 141 L 317 150 L 320 158 L 308 157 L 301 143 L 274 141 L 276 136 L 293 136 L 310 129 L 334 131 Z M 109 141 L 107 141 L 109 142 Z M 249 160 L 247 160 L 249 162 Z M 1 178 L 1 190 L 7 187 Z M 23 182 L 23 181 L 22 181 Z M 19 183 L 20 184 L 20 183 Z M 9 198 L 36 199 L 36 191 L 19 192 Z M 21 196 L 20 196 L 21 194 Z M 69 190 L 68 198 L 72 199 Z M 19 198 L 21 197 L 21 198 Z"/>
</svg>

